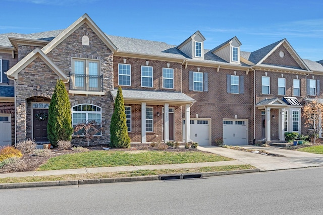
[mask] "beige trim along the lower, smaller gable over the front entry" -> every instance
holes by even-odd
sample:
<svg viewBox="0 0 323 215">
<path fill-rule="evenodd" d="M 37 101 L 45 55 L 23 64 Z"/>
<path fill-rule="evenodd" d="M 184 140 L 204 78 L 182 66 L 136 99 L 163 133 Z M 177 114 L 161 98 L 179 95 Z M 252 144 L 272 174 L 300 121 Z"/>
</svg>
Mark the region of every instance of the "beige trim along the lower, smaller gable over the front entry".
<svg viewBox="0 0 323 215">
<path fill-rule="evenodd" d="M 7 71 L 7 76 L 12 77 L 14 79 L 18 79 L 18 74 L 21 70 L 23 70 L 27 65 L 29 65 L 32 61 L 34 61 L 37 57 L 39 57 L 42 61 L 46 63 L 46 65 L 53 70 L 61 79 L 68 80 L 68 77 L 63 73 L 63 71 L 57 67 L 41 50 L 40 48 L 34 49 L 27 56 L 25 56 L 22 60 L 20 60 L 17 64 L 11 67 Z"/>
</svg>

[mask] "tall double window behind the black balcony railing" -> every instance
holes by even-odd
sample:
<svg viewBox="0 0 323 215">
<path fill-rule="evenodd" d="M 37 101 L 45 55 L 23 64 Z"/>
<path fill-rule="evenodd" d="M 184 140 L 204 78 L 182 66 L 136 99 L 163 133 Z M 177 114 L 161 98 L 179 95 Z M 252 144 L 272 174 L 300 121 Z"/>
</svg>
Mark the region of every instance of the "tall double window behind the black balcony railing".
<svg viewBox="0 0 323 215">
<path fill-rule="evenodd" d="M 73 89 L 100 91 L 100 61 L 92 59 L 73 59 Z"/>
</svg>

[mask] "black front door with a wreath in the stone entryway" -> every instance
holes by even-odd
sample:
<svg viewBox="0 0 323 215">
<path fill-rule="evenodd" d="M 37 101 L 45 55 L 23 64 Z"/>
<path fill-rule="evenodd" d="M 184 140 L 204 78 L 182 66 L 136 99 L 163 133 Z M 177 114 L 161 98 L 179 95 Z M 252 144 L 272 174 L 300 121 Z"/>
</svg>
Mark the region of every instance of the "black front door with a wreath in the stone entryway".
<svg viewBox="0 0 323 215">
<path fill-rule="evenodd" d="M 48 109 L 33 109 L 33 138 L 36 142 L 48 142 Z"/>
</svg>

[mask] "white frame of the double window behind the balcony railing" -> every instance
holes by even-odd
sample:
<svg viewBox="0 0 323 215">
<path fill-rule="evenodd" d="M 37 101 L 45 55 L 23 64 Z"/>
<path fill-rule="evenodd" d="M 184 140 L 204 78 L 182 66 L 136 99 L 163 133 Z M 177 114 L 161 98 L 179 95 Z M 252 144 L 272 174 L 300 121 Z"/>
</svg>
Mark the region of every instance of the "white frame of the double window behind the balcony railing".
<svg viewBox="0 0 323 215">
<path fill-rule="evenodd" d="M 76 73 L 75 71 L 75 61 L 83 62 L 83 74 Z M 90 69 L 89 69 L 89 63 L 94 62 L 97 63 L 97 71 L 96 75 L 90 74 Z M 93 76 L 99 76 L 100 75 L 100 60 L 93 60 L 93 59 L 87 59 L 87 58 L 72 58 L 72 73 L 73 74 L 78 74 L 78 75 L 93 75 Z M 99 90 L 100 87 L 100 80 L 97 79 L 97 82 L 91 81 L 91 78 L 89 77 L 84 77 L 84 80 L 82 82 L 82 86 L 77 86 L 79 82 L 76 81 L 76 79 L 82 79 L 81 77 L 74 77 L 74 82 L 73 82 L 73 87 L 74 88 L 86 88 L 87 90 L 93 90 L 97 89 Z M 94 84 L 94 86 L 91 84 Z"/>
</svg>

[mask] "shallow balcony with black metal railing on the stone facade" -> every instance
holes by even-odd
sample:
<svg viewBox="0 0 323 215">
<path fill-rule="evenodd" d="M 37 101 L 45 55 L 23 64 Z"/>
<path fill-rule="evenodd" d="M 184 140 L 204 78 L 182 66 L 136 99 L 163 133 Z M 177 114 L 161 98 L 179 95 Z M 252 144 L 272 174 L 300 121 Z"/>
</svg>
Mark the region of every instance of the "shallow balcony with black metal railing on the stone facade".
<svg viewBox="0 0 323 215">
<path fill-rule="evenodd" d="M 70 91 L 103 92 L 103 75 L 70 74 Z"/>
</svg>

